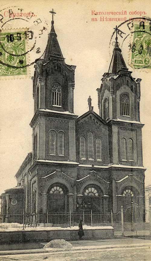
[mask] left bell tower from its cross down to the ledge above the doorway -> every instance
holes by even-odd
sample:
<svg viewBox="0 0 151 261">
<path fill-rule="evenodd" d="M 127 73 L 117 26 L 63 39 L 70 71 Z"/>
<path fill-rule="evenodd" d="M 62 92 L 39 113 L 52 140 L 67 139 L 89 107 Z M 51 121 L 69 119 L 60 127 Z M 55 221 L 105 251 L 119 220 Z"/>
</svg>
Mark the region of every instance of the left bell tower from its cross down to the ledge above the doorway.
<svg viewBox="0 0 151 261">
<path fill-rule="evenodd" d="M 51 13 L 52 16 L 55 14 Z M 30 125 L 33 128 L 34 161 L 76 160 L 75 69 L 75 65 L 65 63 L 52 18 L 43 59 L 36 60 L 33 77 L 34 117 Z"/>
</svg>

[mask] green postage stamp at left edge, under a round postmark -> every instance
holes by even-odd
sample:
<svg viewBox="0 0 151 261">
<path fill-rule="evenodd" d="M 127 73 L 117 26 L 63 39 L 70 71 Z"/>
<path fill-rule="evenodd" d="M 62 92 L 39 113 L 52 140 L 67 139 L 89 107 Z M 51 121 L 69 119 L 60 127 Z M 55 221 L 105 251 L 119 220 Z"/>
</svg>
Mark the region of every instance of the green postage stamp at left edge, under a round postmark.
<svg viewBox="0 0 151 261">
<path fill-rule="evenodd" d="M 27 75 L 25 30 L 0 33 L 0 76 Z M 7 77 L 9 78 L 9 77 Z"/>
</svg>

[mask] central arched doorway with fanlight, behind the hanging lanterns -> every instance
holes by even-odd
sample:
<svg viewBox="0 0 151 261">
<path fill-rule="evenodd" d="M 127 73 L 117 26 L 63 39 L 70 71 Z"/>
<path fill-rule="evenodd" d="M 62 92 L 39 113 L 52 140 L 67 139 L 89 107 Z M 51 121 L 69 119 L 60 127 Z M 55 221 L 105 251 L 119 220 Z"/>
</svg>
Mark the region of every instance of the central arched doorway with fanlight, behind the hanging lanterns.
<svg viewBox="0 0 151 261">
<path fill-rule="evenodd" d="M 94 212 L 103 211 L 103 192 L 99 186 L 94 184 L 88 185 L 84 188 L 82 194 L 84 195 L 83 199 L 87 210 L 92 209 Z"/>
</svg>

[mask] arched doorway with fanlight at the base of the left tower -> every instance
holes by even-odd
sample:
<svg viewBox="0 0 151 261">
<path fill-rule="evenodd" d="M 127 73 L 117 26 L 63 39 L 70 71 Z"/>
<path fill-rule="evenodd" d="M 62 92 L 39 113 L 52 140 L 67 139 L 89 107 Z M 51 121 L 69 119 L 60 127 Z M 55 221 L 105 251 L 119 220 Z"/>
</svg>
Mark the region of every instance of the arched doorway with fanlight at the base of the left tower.
<svg viewBox="0 0 151 261">
<path fill-rule="evenodd" d="M 68 209 L 68 189 L 60 183 L 55 183 L 48 189 L 48 212 L 64 212 Z"/>
</svg>

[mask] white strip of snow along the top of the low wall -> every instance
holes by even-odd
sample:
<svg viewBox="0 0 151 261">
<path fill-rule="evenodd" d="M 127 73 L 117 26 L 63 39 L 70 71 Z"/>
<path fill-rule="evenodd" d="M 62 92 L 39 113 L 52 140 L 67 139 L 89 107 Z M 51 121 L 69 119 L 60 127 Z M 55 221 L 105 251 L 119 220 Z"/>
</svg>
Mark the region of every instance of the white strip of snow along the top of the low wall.
<svg viewBox="0 0 151 261">
<path fill-rule="evenodd" d="M 3 224 L 3 226 L 2 226 Z M 22 231 L 23 224 L 18 223 L 0 223 L 0 232 L 1 231 Z M 26 227 L 24 231 L 46 231 L 46 230 L 78 230 L 78 226 L 71 226 L 70 227 Z M 112 226 L 87 226 L 83 225 L 83 229 L 113 229 Z"/>
</svg>

